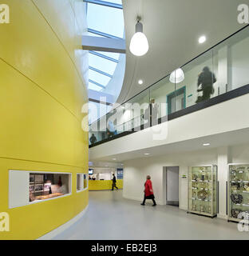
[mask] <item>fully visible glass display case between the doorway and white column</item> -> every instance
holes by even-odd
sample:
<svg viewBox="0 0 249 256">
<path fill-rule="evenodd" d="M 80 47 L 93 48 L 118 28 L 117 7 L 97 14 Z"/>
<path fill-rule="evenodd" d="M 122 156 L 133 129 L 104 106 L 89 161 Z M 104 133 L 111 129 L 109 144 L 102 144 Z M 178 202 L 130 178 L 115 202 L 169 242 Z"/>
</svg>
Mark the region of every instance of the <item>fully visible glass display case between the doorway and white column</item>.
<svg viewBox="0 0 249 256">
<path fill-rule="evenodd" d="M 217 215 L 217 166 L 192 166 L 188 179 L 188 212 Z"/>
</svg>

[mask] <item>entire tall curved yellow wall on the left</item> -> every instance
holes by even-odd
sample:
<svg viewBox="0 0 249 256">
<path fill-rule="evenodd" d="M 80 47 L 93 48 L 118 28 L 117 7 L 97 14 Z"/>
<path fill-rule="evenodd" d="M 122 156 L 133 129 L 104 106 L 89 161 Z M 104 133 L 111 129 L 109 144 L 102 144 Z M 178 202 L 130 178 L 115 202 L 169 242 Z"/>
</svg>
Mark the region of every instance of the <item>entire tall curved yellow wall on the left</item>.
<svg viewBox="0 0 249 256">
<path fill-rule="evenodd" d="M 0 24 L 0 213 L 10 214 L 2 239 L 34 239 L 88 205 L 76 193 L 88 172 L 88 134 L 81 129 L 87 101 L 87 54 L 81 0 L 7 0 L 10 24 Z M 9 170 L 72 173 L 72 195 L 9 209 Z"/>
</svg>

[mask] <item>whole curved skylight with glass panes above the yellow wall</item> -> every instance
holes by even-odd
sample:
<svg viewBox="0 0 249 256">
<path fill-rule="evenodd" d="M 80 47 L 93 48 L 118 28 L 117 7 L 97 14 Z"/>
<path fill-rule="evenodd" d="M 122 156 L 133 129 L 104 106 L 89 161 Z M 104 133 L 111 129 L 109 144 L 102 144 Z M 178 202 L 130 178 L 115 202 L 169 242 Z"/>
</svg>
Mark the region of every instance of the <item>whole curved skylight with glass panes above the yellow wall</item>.
<svg viewBox="0 0 249 256">
<path fill-rule="evenodd" d="M 83 1 L 86 2 L 87 35 L 101 38 L 124 38 L 124 14 L 121 0 Z M 117 69 L 118 65 L 121 68 Z M 90 99 L 96 101 L 98 94 L 104 93 L 112 98 L 109 103 L 115 102 L 123 84 L 124 67 L 125 58 L 122 54 L 89 50 L 89 90 L 95 91 L 91 94 L 94 98 Z M 114 74 L 116 74 L 115 78 L 113 78 Z M 103 108 L 99 103 L 96 104 Z M 100 113 L 103 114 L 102 112 Z"/>
</svg>

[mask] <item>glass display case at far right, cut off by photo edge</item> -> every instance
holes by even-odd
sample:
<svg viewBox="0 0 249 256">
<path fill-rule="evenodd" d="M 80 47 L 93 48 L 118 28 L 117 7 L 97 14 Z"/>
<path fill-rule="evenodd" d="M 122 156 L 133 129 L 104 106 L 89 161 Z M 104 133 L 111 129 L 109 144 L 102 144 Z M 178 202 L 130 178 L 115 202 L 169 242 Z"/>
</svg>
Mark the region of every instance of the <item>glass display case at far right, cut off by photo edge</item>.
<svg viewBox="0 0 249 256">
<path fill-rule="evenodd" d="M 249 164 L 229 164 L 228 170 L 228 221 L 249 216 Z"/>
</svg>

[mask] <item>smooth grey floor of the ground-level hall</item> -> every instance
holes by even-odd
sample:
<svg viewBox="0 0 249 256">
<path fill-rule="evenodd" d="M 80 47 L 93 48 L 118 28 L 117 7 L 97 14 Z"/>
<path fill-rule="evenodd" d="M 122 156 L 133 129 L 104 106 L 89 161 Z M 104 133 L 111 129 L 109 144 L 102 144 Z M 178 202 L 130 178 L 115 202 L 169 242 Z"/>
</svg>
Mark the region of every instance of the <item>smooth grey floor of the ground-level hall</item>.
<svg viewBox="0 0 249 256">
<path fill-rule="evenodd" d="M 156 206 L 122 198 L 122 191 L 89 192 L 89 209 L 54 239 L 248 239 L 237 224 L 187 214 L 175 206 Z"/>
</svg>

